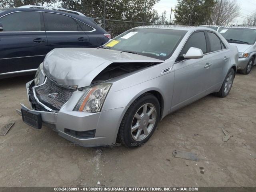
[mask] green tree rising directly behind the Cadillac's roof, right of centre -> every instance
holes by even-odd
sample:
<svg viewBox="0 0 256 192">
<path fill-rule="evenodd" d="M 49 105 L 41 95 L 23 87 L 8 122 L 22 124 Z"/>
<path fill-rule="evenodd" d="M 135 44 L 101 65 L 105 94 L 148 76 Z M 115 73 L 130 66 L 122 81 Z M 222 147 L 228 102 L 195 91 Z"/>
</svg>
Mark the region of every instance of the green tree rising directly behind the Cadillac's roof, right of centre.
<svg viewBox="0 0 256 192">
<path fill-rule="evenodd" d="M 216 0 L 178 0 L 175 6 L 176 24 L 206 24 L 214 12 Z"/>
</svg>

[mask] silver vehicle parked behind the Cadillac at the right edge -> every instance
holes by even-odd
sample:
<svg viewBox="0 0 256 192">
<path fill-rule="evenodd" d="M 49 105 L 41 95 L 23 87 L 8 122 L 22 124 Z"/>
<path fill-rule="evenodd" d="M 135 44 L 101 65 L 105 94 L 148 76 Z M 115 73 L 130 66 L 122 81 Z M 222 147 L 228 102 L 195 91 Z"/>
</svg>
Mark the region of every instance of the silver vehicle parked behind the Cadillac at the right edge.
<svg viewBox="0 0 256 192">
<path fill-rule="evenodd" d="M 238 48 L 238 72 L 249 74 L 252 66 L 256 64 L 256 28 L 233 26 L 222 29 L 220 34 Z"/>
</svg>

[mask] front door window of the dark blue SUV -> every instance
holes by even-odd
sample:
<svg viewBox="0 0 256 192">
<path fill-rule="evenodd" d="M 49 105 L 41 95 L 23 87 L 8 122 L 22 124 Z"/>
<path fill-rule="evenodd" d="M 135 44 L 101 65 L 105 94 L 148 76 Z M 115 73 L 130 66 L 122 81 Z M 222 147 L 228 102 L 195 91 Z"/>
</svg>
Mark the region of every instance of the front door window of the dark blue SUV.
<svg viewBox="0 0 256 192">
<path fill-rule="evenodd" d="M 40 12 L 14 12 L 0 18 L 3 32 L 41 31 Z"/>
</svg>

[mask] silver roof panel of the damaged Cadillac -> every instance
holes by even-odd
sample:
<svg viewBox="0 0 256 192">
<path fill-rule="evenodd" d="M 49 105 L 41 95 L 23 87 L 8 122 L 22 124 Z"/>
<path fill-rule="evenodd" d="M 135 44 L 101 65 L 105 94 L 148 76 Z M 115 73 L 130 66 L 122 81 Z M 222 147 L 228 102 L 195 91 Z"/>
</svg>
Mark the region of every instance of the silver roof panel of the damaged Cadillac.
<svg viewBox="0 0 256 192">
<path fill-rule="evenodd" d="M 200 27 L 200 26 L 182 26 L 182 25 L 148 25 L 148 26 L 138 26 L 135 28 L 154 28 L 154 29 L 168 29 L 168 30 L 183 30 L 183 31 L 196 31 L 196 30 L 208 30 L 212 32 L 216 32 L 211 28 Z"/>
</svg>

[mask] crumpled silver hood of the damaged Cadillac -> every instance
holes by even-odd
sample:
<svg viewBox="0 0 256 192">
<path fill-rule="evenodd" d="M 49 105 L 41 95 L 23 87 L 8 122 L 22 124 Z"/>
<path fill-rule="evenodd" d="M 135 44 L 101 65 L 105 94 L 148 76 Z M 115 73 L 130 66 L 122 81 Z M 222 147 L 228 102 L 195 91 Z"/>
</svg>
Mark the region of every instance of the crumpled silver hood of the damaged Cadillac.
<svg viewBox="0 0 256 192">
<path fill-rule="evenodd" d="M 164 62 L 132 53 L 102 48 L 58 48 L 44 59 L 44 72 L 65 86 L 89 86 L 104 68 L 113 62 Z"/>
</svg>

